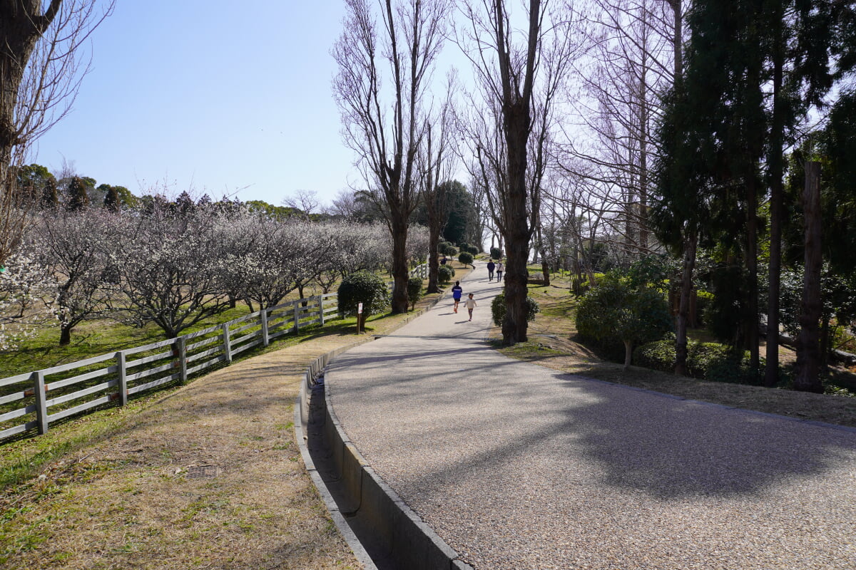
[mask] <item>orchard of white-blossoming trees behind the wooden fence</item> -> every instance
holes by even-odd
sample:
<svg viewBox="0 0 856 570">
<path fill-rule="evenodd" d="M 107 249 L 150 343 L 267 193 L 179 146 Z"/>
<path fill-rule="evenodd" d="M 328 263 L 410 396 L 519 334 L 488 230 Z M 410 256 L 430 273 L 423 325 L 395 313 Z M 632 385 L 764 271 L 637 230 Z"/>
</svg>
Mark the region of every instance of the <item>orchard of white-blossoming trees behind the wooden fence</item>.
<svg viewBox="0 0 856 570">
<path fill-rule="evenodd" d="M 427 232 L 408 237 L 424 261 Z M 85 320 L 154 323 L 166 338 L 235 303 L 251 310 L 312 286 L 328 292 L 361 269 L 388 269 L 385 226 L 277 217 L 247 204 L 166 201 L 139 208 L 58 207 L 33 215 L 0 273 L 0 350 L 56 326 L 60 344 Z"/>
</svg>

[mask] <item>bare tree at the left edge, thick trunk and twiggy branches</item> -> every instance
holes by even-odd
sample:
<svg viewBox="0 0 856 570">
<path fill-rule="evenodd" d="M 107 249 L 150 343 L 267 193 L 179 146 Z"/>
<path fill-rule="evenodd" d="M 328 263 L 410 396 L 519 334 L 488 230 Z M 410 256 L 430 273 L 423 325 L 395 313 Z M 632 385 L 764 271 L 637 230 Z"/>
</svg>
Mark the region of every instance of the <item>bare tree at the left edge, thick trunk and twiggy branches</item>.
<svg viewBox="0 0 856 570">
<path fill-rule="evenodd" d="M 0 263 L 25 220 L 15 185 L 33 141 L 71 109 L 88 63 L 82 44 L 115 0 L 0 0 Z"/>
</svg>

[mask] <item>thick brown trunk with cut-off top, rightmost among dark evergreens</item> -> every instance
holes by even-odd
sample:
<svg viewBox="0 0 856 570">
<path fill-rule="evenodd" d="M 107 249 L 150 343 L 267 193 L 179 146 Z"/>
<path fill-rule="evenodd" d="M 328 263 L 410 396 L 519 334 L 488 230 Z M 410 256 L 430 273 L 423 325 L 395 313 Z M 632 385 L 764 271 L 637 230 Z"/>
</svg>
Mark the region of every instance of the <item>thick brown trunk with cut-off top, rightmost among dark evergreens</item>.
<svg viewBox="0 0 856 570">
<path fill-rule="evenodd" d="M 794 389 L 823 393 L 820 381 L 820 162 L 805 162 L 805 278 L 800 308 L 800 334 L 797 336 L 797 364 Z"/>
</svg>

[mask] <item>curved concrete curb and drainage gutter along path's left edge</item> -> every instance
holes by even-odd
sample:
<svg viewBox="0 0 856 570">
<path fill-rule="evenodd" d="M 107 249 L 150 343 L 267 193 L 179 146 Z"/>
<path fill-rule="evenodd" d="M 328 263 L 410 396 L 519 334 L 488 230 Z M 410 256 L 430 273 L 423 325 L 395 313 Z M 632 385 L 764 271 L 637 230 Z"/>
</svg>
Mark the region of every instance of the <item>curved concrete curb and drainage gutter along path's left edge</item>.
<svg viewBox="0 0 856 570">
<path fill-rule="evenodd" d="M 443 297 L 445 293 L 438 295 L 430 306 L 402 320 L 399 326 L 425 313 Z M 315 382 L 333 358 L 374 339 L 367 337 L 331 350 L 307 368 L 294 403 L 294 437 L 306 471 L 342 538 L 366 570 L 378 567 L 473 570 L 366 463 L 336 418 L 330 390 Z M 318 401 L 322 390 L 324 403 Z M 314 452 L 316 456 L 322 455 L 324 466 L 317 466 L 313 459 L 310 438 L 318 440 L 324 448 Z"/>
</svg>

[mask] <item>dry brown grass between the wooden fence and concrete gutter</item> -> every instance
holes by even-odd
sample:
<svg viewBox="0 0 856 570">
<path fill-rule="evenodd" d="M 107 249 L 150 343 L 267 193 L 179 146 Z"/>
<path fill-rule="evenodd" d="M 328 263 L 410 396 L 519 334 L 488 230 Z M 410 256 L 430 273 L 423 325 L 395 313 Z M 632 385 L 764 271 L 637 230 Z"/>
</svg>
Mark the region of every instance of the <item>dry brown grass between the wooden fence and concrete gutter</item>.
<svg viewBox="0 0 856 570">
<path fill-rule="evenodd" d="M 366 328 L 388 332 L 408 316 Z M 360 567 L 312 486 L 292 424 L 306 366 L 356 339 L 319 332 L 124 413 L 108 435 L 4 491 L 0 567 Z M 200 467 L 211 476 L 196 477 Z"/>
</svg>

